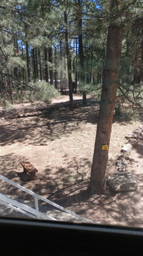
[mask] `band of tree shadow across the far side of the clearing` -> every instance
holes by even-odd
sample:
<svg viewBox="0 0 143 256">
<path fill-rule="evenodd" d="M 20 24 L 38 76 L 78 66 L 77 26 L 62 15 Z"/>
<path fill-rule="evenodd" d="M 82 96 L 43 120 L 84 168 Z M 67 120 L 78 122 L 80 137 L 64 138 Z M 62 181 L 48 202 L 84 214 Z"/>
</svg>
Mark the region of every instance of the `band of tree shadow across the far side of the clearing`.
<svg viewBox="0 0 143 256">
<path fill-rule="evenodd" d="M 1 146 L 12 145 L 16 142 L 30 144 L 31 141 L 33 145 L 41 145 L 60 139 L 63 135 L 68 137 L 72 132 L 82 131 L 83 124 L 97 124 L 99 101 L 88 102 L 87 106 L 78 104 L 74 111 L 69 111 L 69 108 L 64 105 L 59 109 L 53 106 L 50 109 L 49 106 L 49 112 L 43 111 L 41 116 L 19 119 L 9 119 L 8 112 L 8 121 L 0 122 Z M 122 122 L 126 125 L 127 116 L 114 116 L 113 122 Z"/>
</svg>

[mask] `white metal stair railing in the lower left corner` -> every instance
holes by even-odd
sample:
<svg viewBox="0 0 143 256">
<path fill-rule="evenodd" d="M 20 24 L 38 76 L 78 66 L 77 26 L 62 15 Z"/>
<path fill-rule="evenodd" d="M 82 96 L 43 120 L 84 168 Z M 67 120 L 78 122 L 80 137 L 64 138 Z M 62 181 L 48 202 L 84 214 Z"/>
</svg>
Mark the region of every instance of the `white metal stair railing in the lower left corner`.
<svg viewBox="0 0 143 256">
<path fill-rule="evenodd" d="M 3 194 L 0 193 L 0 204 L 4 204 L 5 206 L 9 206 L 10 208 L 21 212 L 22 214 L 26 214 L 27 216 L 31 216 L 33 218 L 38 218 L 38 219 L 51 219 L 51 220 L 57 220 L 49 215 L 46 215 L 39 211 L 39 202 L 38 200 L 40 199 L 41 201 L 46 202 L 47 204 L 54 206 L 56 209 L 59 209 L 61 211 L 66 212 L 66 214 L 71 214 L 71 216 L 76 217 L 77 219 L 80 219 L 81 221 L 88 221 L 88 222 L 93 222 L 89 219 L 85 219 L 77 214 L 74 214 L 74 212 L 69 211 L 65 209 L 62 206 L 59 206 L 58 204 L 55 204 L 52 201 L 49 201 L 49 199 L 44 198 L 43 196 L 39 196 L 37 193 L 34 193 L 33 191 L 30 191 L 27 188 L 24 188 L 23 186 L 15 183 L 12 180 L 9 180 L 8 178 L 4 177 L 3 175 L 0 175 L 0 179 L 6 181 L 6 183 L 11 184 L 12 186 L 21 189 L 22 191 L 25 191 L 26 193 L 29 193 L 31 196 L 34 196 L 34 203 L 35 203 L 35 209 L 26 206 L 25 204 L 21 204 L 20 202 L 11 199 L 7 196 L 4 196 Z"/>
</svg>

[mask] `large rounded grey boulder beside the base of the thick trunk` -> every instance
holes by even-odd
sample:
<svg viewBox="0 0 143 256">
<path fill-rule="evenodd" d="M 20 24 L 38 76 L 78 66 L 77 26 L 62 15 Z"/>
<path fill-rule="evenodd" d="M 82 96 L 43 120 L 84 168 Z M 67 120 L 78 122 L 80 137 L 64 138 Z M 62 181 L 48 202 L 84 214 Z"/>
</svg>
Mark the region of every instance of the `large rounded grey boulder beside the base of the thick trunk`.
<svg viewBox="0 0 143 256">
<path fill-rule="evenodd" d="M 135 191 L 137 181 L 131 173 L 113 173 L 108 176 L 108 185 L 113 191 Z"/>
</svg>

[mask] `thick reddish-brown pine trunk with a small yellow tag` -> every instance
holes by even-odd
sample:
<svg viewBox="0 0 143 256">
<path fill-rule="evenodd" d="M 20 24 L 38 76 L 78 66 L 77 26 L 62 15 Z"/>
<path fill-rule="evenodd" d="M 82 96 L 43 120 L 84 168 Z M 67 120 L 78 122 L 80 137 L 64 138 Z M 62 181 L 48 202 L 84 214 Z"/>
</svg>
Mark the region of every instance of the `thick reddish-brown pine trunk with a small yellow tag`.
<svg viewBox="0 0 143 256">
<path fill-rule="evenodd" d="M 94 145 L 90 193 L 102 193 L 109 153 L 109 141 L 112 131 L 114 103 L 119 76 L 119 61 L 122 49 L 123 27 L 110 26 L 107 37 L 107 56 L 104 66 L 104 80 L 100 101 L 97 136 Z M 105 147 L 104 147 L 105 146 Z"/>
</svg>

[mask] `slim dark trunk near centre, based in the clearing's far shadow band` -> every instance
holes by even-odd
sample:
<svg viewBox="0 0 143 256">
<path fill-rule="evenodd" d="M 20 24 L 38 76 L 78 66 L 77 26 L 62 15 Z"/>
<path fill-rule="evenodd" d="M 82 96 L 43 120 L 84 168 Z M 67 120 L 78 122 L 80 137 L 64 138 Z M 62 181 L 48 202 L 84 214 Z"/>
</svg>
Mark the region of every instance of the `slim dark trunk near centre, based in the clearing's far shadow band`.
<svg viewBox="0 0 143 256">
<path fill-rule="evenodd" d="M 72 80 L 71 80 L 71 56 L 69 52 L 69 35 L 67 29 L 67 14 L 64 12 L 64 22 L 66 24 L 66 58 L 67 58 L 67 70 L 68 70 L 68 78 L 69 78 L 69 109 L 74 110 L 74 102 L 73 102 L 73 94 L 72 94 Z"/>
</svg>

